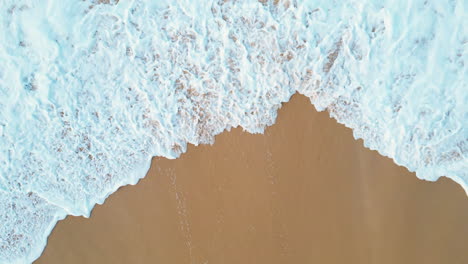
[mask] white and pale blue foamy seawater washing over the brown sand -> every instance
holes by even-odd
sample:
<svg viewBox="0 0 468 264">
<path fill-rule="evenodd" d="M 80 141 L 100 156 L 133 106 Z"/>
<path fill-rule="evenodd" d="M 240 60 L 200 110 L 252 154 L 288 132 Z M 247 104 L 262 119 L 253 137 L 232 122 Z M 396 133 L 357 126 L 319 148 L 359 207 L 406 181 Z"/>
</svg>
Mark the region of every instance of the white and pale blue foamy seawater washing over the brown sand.
<svg viewBox="0 0 468 264">
<path fill-rule="evenodd" d="M 152 156 L 294 93 L 421 179 L 468 180 L 466 0 L 0 1 L 0 263 Z"/>
</svg>

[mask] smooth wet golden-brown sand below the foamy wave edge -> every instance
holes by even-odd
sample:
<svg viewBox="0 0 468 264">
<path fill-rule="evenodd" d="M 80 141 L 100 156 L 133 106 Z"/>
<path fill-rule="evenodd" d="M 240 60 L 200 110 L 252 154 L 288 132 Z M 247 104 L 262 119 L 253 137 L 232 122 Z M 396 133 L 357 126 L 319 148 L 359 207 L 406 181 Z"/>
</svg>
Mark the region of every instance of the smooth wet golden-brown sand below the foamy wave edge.
<svg viewBox="0 0 468 264">
<path fill-rule="evenodd" d="M 153 159 L 36 263 L 468 263 L 468 197 L 421 181 L 295 95 L 264 135 Z"/>
</svg>

